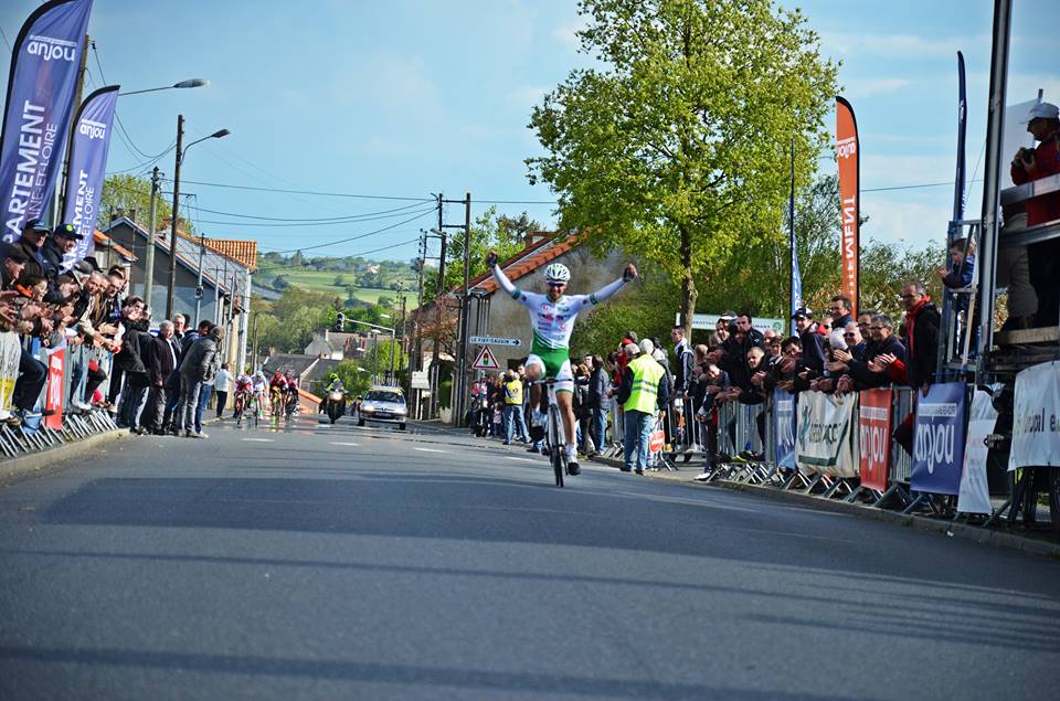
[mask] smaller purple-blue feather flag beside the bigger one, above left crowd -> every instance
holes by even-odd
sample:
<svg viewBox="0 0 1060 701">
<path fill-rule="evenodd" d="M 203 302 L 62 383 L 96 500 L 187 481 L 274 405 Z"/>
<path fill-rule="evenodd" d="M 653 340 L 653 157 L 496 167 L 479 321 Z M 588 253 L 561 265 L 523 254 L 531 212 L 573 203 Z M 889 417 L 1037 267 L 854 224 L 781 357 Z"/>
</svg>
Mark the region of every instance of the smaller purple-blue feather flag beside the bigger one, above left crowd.
<svg viewBox="0 0 1060 701">
<path fill-rule="evenodd" d="M 118 103 L 117 85 L 99 88 L 82 103 L 74 121 L 74 141 L 70 148 L 70 166 L 66 168 L 66 192 L 63 194 L 63 222 L 73 224 L 81 241 L 63 258 L 63 269 L 70 269 L 75 261 L 89 255 L 93 249 L 93 233 L 103 195 L 103 179 L 107 170 L 107 152 L 110 150 L 110 126 L 114 107 Z"/>
</svg>

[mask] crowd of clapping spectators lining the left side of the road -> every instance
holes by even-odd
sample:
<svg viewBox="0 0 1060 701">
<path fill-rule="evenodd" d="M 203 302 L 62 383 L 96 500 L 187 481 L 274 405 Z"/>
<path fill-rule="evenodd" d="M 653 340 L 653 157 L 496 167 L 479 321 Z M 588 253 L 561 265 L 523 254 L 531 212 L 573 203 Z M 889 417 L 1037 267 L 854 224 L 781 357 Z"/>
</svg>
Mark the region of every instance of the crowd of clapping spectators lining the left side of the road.
<svg viewBox="0 0 1060 701">
<path fill-rule="evenodd" d="M 189 328 L 177 314 L 151 333 L 151 310 L 128 294 L 125 267 L 103 269 L 93 256 L 74 263 L 81 238 L 71 225 L 50 231 L 31 220 L 0 247 L 0 371 L 13 383 L 0 397 L 0 421 L 18 426 L 54 413 L 44 402 L 41 357 L 65 348 L 62 411 L 108 411 L 140 435 L 205 438 L 202 415 L 222 369 L 224 329 L 206 320 Z"/>
</svg>

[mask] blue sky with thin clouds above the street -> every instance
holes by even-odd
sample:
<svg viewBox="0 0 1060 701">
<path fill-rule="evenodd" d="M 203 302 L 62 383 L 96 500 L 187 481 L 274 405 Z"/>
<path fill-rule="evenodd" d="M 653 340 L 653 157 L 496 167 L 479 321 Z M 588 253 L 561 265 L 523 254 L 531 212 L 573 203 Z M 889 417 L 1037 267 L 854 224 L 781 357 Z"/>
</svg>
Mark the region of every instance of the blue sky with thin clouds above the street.
<svg viewBox="0 0 1060 701">
<path fill-rule="evenodd" d="M 2 3 L 0 28 L 9 42 L 36 4 Z M 842 61 L 842 94 L 854 104 L 860 130 L 861 211 L 870 216 L 862 236 L 912 246 L 940 240 L 952 188 L 873 190 L 952 180 L 958 49 L 968 70 L 967 167 L 976 168 L 993 2 L 781 4 L 802 8 L 822 35 L 825 55 Z M 1060 2 L 1015 4 L 1009 102 L 1031 99 L 1039 87 L 1057 102 Z M 179 29 L 171 38 L 174 20 Z M 542 202 L 497 206 L 553 223 L 551 193 L 527 182 L 523 159 L 538 145 L 526 125 L 540 96 L 585 64 L 576 53 L 580 24 L 573 0 L 96 0 L 89 35 L 99 63 L 89 54 L 88 87 L 104 78 L 125 89 L 190 77 L 212 82 L 121 98 L 118 114 L 131 146 L 114 139 L 108 166 L 148 171 L 150 166 L 140 164 L 149 159 L 134 147 L 148 156 L 166 150 L 176 138 L 178 113 L 187 118 L 186 144 L 231 129 L 227 138 L 194 146 L 181 173 L 182 192 L 195 194 L 192 205 L 227 213 L 193 212 L 206 235 L 256 238 L 262 249 L 362 236 L 315 251 L 348 255 L 394 246 L 369 255 L 407 259 L 415 256 L 418 230 L 434 222 L 431 214 L 406 220 L 430 206 L 415 199 L 432 192 L 452 199 L 470 192 L 475 213 L 488 206 L 486 200 Z M 158 164 L 172 176 L 172 153 Z M 834 168 L 823 163 L 825 171 Z M 975 177 L 982 174 L 979 162 Z M 255 192 L 191 181 L 411 199 Z M 969 215 L 978 214 L 977 185 L 969 188 Z M 398 208 L 407 209 L 341 225 L 242 216 L 324 219 Z M 449 205 L 446 216 L 463 221 L 463 208 Z M 393 229 L 372 233 L 384 226 Z"/>
</svg>

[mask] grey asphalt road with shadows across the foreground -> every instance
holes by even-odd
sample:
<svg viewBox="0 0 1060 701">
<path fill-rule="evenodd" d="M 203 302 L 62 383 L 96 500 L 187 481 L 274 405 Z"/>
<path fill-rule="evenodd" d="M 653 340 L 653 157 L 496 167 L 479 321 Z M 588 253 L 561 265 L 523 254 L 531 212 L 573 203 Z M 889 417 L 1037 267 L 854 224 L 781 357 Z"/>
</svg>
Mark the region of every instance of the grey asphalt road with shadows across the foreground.
<svg viewBox="0 0 1060 701">
<path fill-rule="evenodd" d="M 1053 694 L 1060 563 L 346 422 L 0 489 L 0 699 Z"/>
</svg>

